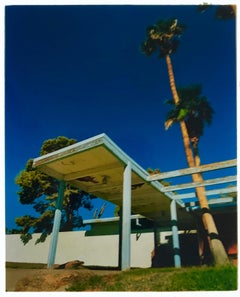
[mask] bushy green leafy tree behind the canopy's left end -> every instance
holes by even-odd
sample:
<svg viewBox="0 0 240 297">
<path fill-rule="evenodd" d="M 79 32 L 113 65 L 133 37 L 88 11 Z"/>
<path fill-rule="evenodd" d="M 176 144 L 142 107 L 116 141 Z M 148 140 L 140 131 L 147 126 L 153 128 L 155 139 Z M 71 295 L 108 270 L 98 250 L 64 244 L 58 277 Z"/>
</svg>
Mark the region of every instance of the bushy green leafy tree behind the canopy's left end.
<svg viewBox="0 0 240 297">
<path fill-rule="evenodd" d="M 76 143 L 75 139 L 59 136 L 46 140 L 40 150 L 40 155 Z M 44 242 L 52 232 L 55 204 L 58 196 L 58 181 L 45 173 L 33 168 L 33 159 L 27 161 L 25 169 L 16 177 L 16 184 L 20 187 L 19 202 L 32 205 L 38 216 L 24 215 L 17 217 L 15 222 L 19 227 L 21 240 L 24 244 L 32 239 L 33 233 L 41 233 L 36 244 Z M 60 231 L 70 231 L 83 225 L 80 208 L 93 208 L 92 199 L 95 198 L 75 187 L 67 185 L 64 192 L 64 202 Z"/>
</svg>

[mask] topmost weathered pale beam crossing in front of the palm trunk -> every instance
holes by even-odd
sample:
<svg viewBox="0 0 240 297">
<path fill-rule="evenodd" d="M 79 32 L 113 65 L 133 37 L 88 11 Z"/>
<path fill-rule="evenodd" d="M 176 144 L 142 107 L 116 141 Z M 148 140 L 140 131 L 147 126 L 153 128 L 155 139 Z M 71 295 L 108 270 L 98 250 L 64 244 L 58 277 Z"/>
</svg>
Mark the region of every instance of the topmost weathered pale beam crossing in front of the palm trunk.
<svg viewBox="0 0 240 297">
<path fill-rule="evenodd" d="M 194 173 L 201 173 L 201 172 L 230 168 L 235 166 L 237 166 L 237 160 L 232 159 L 232 160 L 223 161 L 223 162 L 216 162 L 216 163 L 211 163 L 207 165 L 201 165 L 198 167 L 191 167 L 186 169 L 179 169 L 179 170 L 153 174 L 151 176 L 148 176 L 147 180 L 148 181 L 163 180 L 166 178 L 179 177 L 183 175 L 190 175 Z"/>
</svg>

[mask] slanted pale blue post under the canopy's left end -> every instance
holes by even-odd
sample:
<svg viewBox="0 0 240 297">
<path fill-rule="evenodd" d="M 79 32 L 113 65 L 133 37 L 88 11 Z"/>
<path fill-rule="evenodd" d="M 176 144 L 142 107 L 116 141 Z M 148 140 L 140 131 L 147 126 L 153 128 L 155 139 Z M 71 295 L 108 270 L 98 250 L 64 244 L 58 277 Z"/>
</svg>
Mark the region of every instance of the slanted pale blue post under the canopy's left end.
<svg viewBox="0 0 240 297">
<path fill-rule="evenodd" d="M 58 189 L 58 198 L 56 202 L 56 210 L 54 214 L 53 229 L 51 234 L 50 248 L 49 248 L 49 254 L 48 254 L 48 268 L 52 268 L 55 262 L 58 233 L 60 229 L 61 216 L 62 216 L 64 189 L 65 189 L 65 182 L 60 181 L 59 189 Z"/>
</svg>

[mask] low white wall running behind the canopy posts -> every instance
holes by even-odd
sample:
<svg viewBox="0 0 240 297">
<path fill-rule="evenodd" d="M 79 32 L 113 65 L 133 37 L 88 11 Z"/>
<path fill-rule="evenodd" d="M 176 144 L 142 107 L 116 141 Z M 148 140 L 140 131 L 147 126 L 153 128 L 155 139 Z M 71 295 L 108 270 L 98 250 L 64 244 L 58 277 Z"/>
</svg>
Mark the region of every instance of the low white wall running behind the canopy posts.
<svg viewBox="0 0 240 297">
<path fill-rule="evenodd" d="M 35 245 L 39 234 L 23 245 L 19 234 L 6 235 L 6 261 L 47 263 L 50 236 L 44 243 Z M 55 263 L 72 260 L 84 261 L 85 265 L 117 266 L 118 236 L 85 236 L 85 231 L 60 232 Z M 139 238 L 131 235 L 131 267 L 150 267 L 154 248 L 153 233 L 142 233 Z"/>
</svg>

